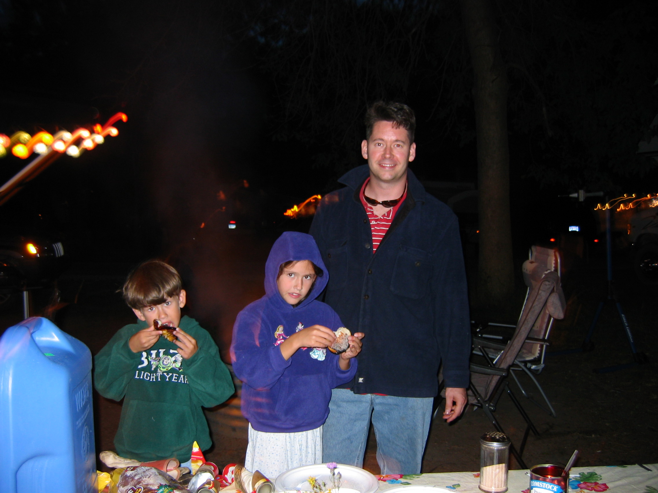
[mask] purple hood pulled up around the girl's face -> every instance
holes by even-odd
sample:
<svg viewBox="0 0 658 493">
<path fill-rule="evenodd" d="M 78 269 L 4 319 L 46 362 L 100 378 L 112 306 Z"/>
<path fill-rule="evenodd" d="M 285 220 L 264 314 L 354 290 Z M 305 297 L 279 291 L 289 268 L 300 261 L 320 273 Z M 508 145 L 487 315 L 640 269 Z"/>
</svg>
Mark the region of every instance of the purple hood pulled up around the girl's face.
<svg viewBox="0 0 658 493">
<path fill-rule="evenodd" d="M 288 304 L 279 294 L 279 289 L 276 285 L 276 275 L 279 273 L 281 264 L 290 260 L 311 260 L 313 264 L 324 272 L 322 276 L 316 277 L 315 286 L 311 289 L 311 293 L 309 293 L 309 296 L 303 302 L 295 307 L 296 309 L 309 304 L 317 298 L 318 294 L 322 293 L 322 290 L 329 281 L 329 273 L 324 262 L 322 262 L 318 245 L 316 245 L 315 239 L 311 235 L 297 233 L 296 231 L 286 231 L 283 233 L 274 242 L 274 245 L 272 245 L 270 256 L 268 256 L 265 263 L 265 296 L 275 300 L 276 305 L 281 305 L 282 308 L 287 306 L 292 309 L 293 306 Z"/>
</svg>

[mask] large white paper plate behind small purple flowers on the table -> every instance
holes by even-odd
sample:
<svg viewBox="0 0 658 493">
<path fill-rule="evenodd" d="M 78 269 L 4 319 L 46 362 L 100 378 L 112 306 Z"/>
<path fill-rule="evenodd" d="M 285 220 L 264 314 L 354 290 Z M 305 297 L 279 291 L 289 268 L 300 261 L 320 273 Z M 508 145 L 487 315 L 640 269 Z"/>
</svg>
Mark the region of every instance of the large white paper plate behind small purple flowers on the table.
<svg viewBox="0 0 658 493">
<path fill-rule="evenodd" d="M 338 464 L 336 472 L 342 475 L 338 492 L 332 493 L 374 493 L 379 488 L 376 477 L 353 465 Z M 303 465 L 281 473 L 274 481 L 276 490 L 287 491 L 313 491 L 309 484 L 309 477 L 330 484 L 329 469 L 324 464 Z M 454 492 L 453 492 L 454 493 Z"/>
</svg>

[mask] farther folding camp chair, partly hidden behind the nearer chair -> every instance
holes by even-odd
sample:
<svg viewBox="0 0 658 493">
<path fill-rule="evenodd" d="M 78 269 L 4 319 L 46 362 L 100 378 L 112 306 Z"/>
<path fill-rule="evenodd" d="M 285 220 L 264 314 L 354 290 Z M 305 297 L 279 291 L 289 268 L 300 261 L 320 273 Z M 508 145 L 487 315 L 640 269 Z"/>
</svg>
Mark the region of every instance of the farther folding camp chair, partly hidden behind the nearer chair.
<svg viewBox="0 0 658 493">
<path fill-rule="evenodd" d="M 528 286 L 526 301 L 524 302 L 525 306 L 530 291 L 533 287 L 536 287 L 536 285 L 540 283 L 544 273 L 547 271 L 554 271 L 558 276 L 560 275 L 560 256 L 557 252 L 557 249 L 538 246 L 530 248 L 530 258 L 524 262 L 522 270 L 523 279 L 526 283 L 526 286 Z M 553 409 L 551 402 L 546 396 L 544 389 L 535 377 L 535 375 L 539 375 L 542 372 L 542 369 L 544 369 L 544 358 L 546 347 L 548 346 L 547 339 L 551 332 L 551 327 L 553 326 L 553 319 L 554 317 L 551 316 L 551 314 L 548 312 L 542 313 L 542 315 L 537 319 L 536 323 L 534 323 L 530 333 L 528 334 L 528 339 L 526 342 L 524 342 L 519 351 L 519 355 L 510 368 L 510 374 L 526 398 L 549 413 L 551 416 L 555 417 L 555 410 Z M 506 338 L 500 335 L 492 334 L 492 329 L 504 327 L 514 329 L 516 326 L 505 323 L 481 324 L 476 327 L 475 334 L 478 337 L 483 337 L 486 339 L 499 339 L 502 342 L 506 340 Z M 476 354 L 478 354 L 478 352 L 479 351 L 476 350 Z M 486 348 L 486 352 L 488 356 L 493 360 L 493 362 L 496 362 L 497 358 L 500 356 L 500 352 L 493 348 Z M 526 392 L 526 390 L 521 385 L 519 378 L 517 377 L 518 372 L 522 372 L 527 375 L 532 383 L 536 385 L 537 390 L 539 390 L 540 394 L 542 394 L 542 398 L 544 400 L 543 402 L 538 402 L 534 399 L 530 392 Z"/>
</svg>

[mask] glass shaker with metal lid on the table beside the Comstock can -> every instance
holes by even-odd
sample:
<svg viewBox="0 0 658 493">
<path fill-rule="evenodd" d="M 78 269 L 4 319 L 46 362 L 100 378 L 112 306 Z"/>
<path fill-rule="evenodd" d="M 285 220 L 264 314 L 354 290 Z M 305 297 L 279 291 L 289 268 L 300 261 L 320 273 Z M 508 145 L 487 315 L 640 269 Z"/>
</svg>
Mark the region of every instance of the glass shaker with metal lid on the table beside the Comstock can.
<svg viewBox="0 0 658 493">
<path fill-rule="evenodd" d="M 486 493 L 507 491 L 507 463 L 509 438 L 504 433 L 492 431 L 480 437 L 480 485 Z"/>
</svg>

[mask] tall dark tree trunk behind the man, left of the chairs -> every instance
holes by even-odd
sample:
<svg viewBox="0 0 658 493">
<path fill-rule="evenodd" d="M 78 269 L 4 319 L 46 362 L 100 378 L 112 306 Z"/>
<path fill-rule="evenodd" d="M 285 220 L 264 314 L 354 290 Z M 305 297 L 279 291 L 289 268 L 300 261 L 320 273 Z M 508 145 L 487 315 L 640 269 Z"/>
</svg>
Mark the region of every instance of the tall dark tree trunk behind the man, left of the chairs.
<svg viewBox="0 0 658 493">
<path fill-rule="evenodd" d="M 507 71 L 490 0 L 461 0 L 470 59 L 478 146 L 478 304 L 503 302 L 514 289 L 509 218 Z"/>
</svg>

